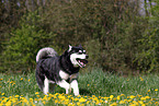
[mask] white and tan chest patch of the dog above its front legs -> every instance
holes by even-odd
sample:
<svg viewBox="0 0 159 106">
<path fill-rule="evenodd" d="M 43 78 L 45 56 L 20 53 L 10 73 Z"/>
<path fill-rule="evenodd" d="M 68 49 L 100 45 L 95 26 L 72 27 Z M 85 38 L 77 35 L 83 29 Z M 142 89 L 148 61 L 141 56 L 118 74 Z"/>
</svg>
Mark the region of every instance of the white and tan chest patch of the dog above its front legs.
<svg viewBox="0 0 159 106">
<path fill-rule="evenodd" d="M 59 71 L 59 76 L 64 80 L 68 80 L 68 79 L 77 79 L 78 78 L 78 73 L 71 74 L 69 75 L 68 73 L 64 72 L 63 70 Z"/>
</svg>

